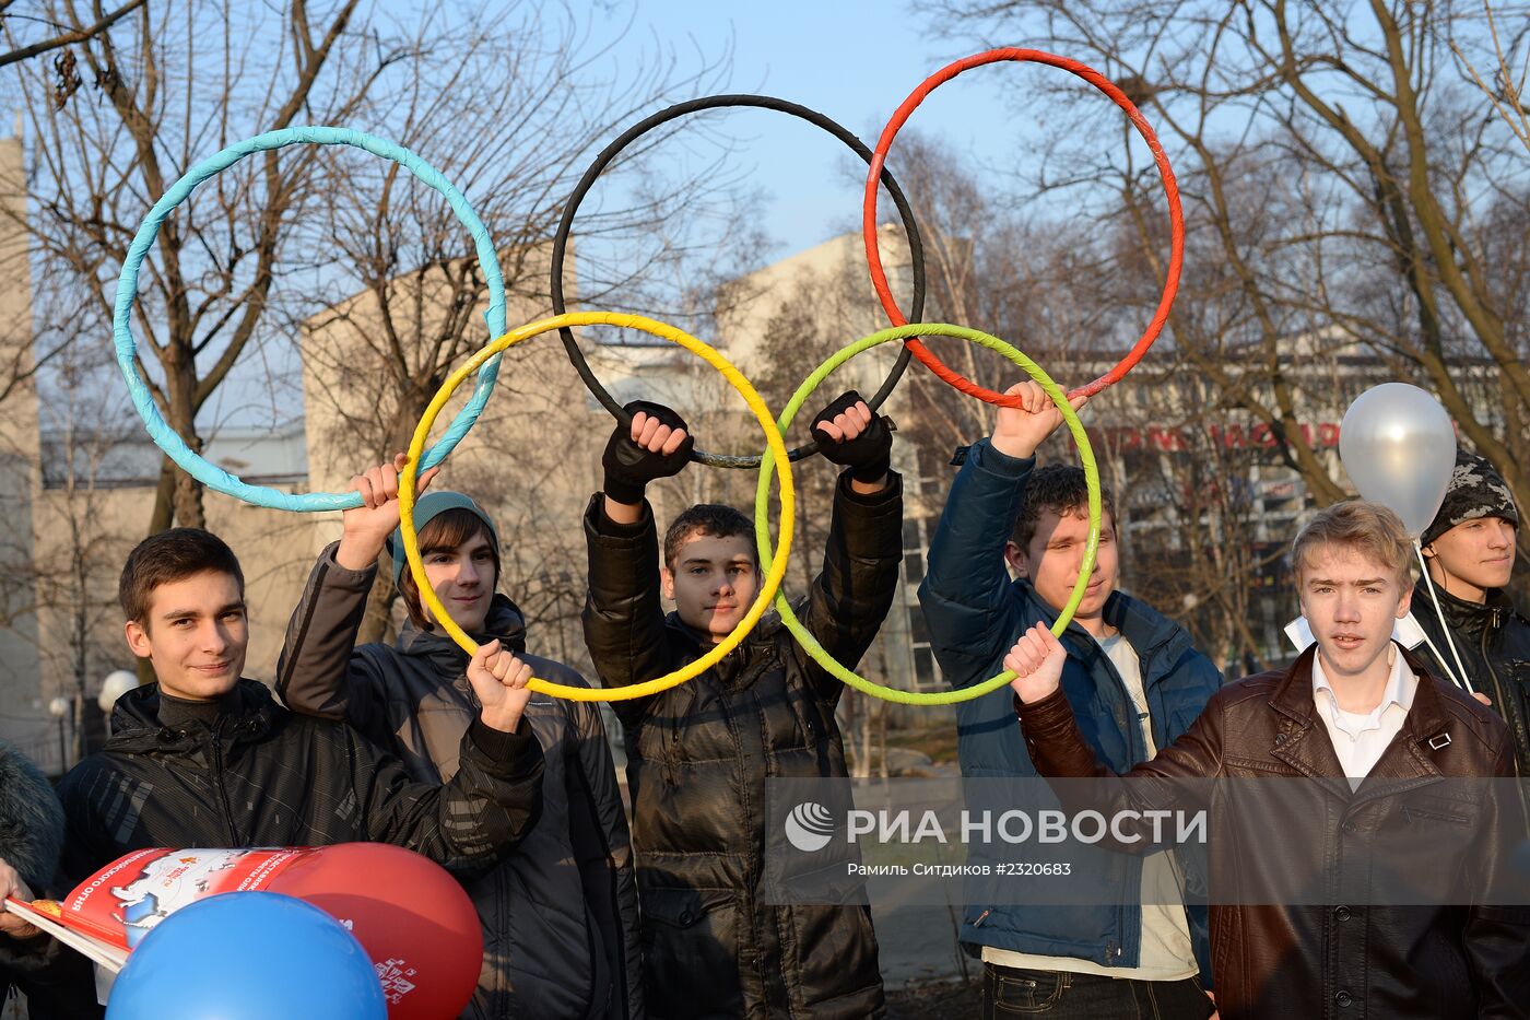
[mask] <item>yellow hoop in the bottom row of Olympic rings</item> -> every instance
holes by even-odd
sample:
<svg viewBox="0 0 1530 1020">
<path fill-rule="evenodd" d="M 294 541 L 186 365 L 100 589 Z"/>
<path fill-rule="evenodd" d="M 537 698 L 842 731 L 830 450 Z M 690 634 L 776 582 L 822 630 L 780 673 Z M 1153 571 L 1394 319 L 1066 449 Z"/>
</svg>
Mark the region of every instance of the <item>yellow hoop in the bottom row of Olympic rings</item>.
<svg viewBox="0 0 1530 1020">
<path fill-rule="evenodd" d="M 419 424 L 415 426 L 415 438 L 409 444 L 409 466 L 399 473 L 398 478 L 398 510 L 399 527 L 404 535 L 404 554 L 409 557 L 409 570 L 415 577 L 416 587 L 419 588 L 419 597 L 430 606 L 431 614 L 451 636 L 451 640 L 454 640 L 457 646 L 470 655 L 477 652 L 477 642 L 468 637 L 467 633 L 457 626 L 456 620 L 451 619 L 451 614 L 441 603 L 441 599 L 430 587 L 430 579 L 425 576 L 425 562 L 419 554 L 419 535 L 415 531 L 415 485 L 421 470 L 419 452 L 425 447 L 425 440 L 430 436 L 430 426 L 436 421 L 442 407 L 445 407 L 447 400 L 451 398 L 451 394 L 456 392 L 457 386 L 462 384 L 473 369 L 479 368 L 491 357 L 499 355 L 506 348 L 516 346 L 522 340 L 529 340 L 531 337 L 542 335 L 543 332 L 566 329 L 569 326 L 621 326 L 624 329 L 641 329 L 649 335 L 678 343 L 711 368 L 718 369 L 718 372 L 728 380 L 733 389 L 744 397 L 750 410 L 754 412 L 754 418 L 759 420 L 760 427 L 765 430 L 765 443 L 771 453 L 770 458 L 765 458 L 765 464 L 780 472 L 782 556 L 767 571 L 765 585 L 750 605 L 750 611 L 744 614 L 744 619 L 739 620 L 736 628 L 733 628 L 733 633 L 715 645 L 711 651 L 696 662 L 687 663 L 673 672 L 667 672 L 662 677 L 655 677 L 653 680 L 635 683 L 626 688 L 574 688 L 565 683 L 552 683 L 551 680 L 542 678 L 532 678 L 531 683 L 526 685 L 532 691 L 540 691 L 542 694 L 551 694 L 560 698 L 569 698 L 571 701 L 626 701 L 669 691 L 670 688 L 679 686 L 692 677 L 711 669 L 722 660 L 724 655 L 739 646 L 748 633 L 754 629 L 754 625 L 759 622 L 760 616 L 765 614 L 765 610 L 770 608 L 771 599 L 776 596 L 777 588 L 780 588 L 782 577 L 786 576 L 786 550 L 791 547 L 793 518 L 796 513 L 791 458 L 786 456 L 786 444 L 780 438 L 780 432 L 776 430 L 776 421 L 771 418 L 770 407 L 767 407 L 760 395 L 754 392 L 754 386 L 750 384 L 744 374 L 733 368 L 733 365 L 715 349 L 688 332 L 676 329 L 675 326 L 667 326 L 661 322 L 644 319 L 643 315 L 626 315 L 621 312 L 565 312 L 562 315 L 528 323 L 491 342 L 488 346 L 474 354 L 467 365 L 453 372 L 447 381 L 441 384 L 441 389 L 436 391 L 436 397 L 430 401 L 430 406 L 425 407 L 425 414 L 419 420 Z"/>
</svg>

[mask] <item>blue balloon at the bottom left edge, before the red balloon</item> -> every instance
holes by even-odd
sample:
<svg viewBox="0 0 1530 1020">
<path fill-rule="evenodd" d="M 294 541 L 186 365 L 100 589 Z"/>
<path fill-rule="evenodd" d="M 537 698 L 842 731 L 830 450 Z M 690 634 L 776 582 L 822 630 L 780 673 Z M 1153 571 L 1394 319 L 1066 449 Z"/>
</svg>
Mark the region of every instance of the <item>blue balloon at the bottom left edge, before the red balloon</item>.
<svg viewBox="0 0 1530 1020">
<path fill-rule="evenodd" d="M 223 893 L 165 917 L 127 957 L 107 1020 L 384 1020 L 355 936 L 277 893 Z"/>
</svg>

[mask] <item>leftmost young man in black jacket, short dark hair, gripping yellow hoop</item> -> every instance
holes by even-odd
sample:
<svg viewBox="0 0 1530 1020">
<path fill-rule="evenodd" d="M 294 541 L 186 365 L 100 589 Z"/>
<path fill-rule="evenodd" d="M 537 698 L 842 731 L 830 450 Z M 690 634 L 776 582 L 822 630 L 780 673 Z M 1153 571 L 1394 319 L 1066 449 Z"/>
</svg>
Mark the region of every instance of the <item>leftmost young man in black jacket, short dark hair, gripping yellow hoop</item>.
<svg viewBox="0 0 1530 1020">
<path fill-rule="evenodd" d="M 156 683 L 118 700 L 106 749 L 60 787 L 70 882 L 145 847 L 355 841 L 407 847 L 471 878 L 536 824 L 542 749 L 522 726 L 529 666 L 483 646 L 468 666 L 482 709 L 461 769 L 445 786 L 412 783 L 346 724 L 294 715 L 240 678 L 243 588 L 233 550 L 199 528 L 161 531 L 129 554 L 118 590 L 127 643 Z"/>
</svg>

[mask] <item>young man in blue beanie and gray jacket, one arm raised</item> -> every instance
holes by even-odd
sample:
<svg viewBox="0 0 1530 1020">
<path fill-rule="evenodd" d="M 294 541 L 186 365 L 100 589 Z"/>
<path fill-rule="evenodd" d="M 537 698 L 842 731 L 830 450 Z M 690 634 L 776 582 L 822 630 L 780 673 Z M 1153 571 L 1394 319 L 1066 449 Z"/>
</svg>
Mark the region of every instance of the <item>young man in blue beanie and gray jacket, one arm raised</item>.
<svg viewBox="0 0 1530 1020">
<path fill-rule="evenodd" d="M 288 626 L 277 691 L 297 712 L 343 718 L 404 760 L 410 778 L 444 783 L 476 712 L 459 649 L 424 605 L 398 533 L 398 472 L 352 479 L 366 505 L 344 515 Z M 433 478 L 427 472 L 424 484 Z M 415 507 L 425 573 L 453 620 L 499 642 L 555 683 L 588 686 L 562 663 L 525 654 L 520 610 L 496 593 L 499 535 L 454 492 Z M 355 645 L 384 547 L 409 622 L 392 645 Z M 600 711 L 532 695 L 525 718 L 542 744 L 542 818 L 499 867 L 467 884 L 483 925 L 483 969 L 464 1017 L 473 1020 L 632 1020 L 643 1015 L 636 885 L 617 772 Z"/>
</svg>

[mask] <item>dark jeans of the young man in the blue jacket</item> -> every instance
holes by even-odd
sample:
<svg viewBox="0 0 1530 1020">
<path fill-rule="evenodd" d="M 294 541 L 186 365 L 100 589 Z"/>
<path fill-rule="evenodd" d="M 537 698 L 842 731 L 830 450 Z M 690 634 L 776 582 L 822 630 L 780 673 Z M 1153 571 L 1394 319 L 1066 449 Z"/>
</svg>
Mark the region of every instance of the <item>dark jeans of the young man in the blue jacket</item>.
<svg viewBox="0 0 1530 1020">
<path fill-rule="evenodd" d="M 1206 1020 L 1215 1011 L 1201 982 L 1140 982 L 984 963 L 982 1020 Z"/>
</svg>

